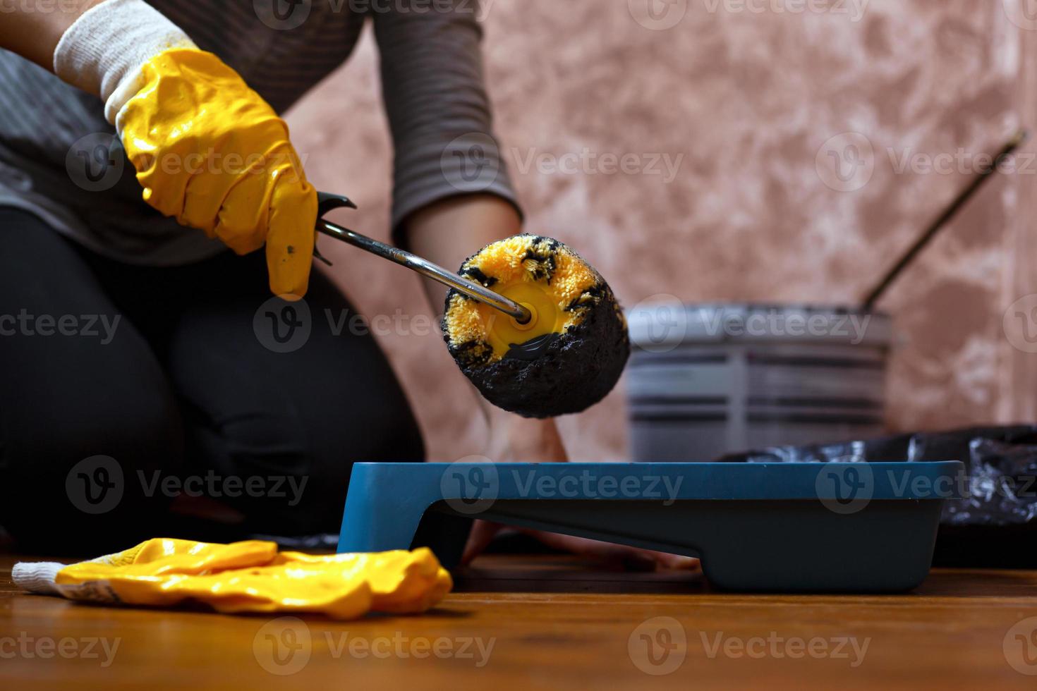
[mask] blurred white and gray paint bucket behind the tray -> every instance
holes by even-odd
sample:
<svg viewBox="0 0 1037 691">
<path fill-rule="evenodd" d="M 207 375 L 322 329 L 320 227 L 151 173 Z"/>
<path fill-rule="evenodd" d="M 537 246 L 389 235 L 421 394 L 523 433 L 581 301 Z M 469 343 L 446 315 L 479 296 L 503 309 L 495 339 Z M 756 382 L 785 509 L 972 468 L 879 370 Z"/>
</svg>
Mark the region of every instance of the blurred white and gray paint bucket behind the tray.
<svg viewBox="0 0 1037 691">
<path fill-rule="evenodd" d="M 708 461 L 884 431 L 888 315 L 672 298 L 642 303 L 627 320 L 635 461 Z"/>
</svg>

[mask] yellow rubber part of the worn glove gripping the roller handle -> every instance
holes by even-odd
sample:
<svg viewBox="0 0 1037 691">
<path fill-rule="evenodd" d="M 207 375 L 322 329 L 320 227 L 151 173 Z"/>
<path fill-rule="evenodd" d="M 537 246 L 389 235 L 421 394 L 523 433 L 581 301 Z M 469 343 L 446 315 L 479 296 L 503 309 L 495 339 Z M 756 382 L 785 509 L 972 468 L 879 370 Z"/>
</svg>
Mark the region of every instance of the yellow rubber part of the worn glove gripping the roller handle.
<svg viewBox="0 0 1037 691">
<path fill-rule="evenodd" d="M 270 288 L 306 294 L 317 195 L 274 109 L 212 53 L 143 64 L 116 116 L 144 201 L 237 254 L 267 246 Z"/>
</svg>

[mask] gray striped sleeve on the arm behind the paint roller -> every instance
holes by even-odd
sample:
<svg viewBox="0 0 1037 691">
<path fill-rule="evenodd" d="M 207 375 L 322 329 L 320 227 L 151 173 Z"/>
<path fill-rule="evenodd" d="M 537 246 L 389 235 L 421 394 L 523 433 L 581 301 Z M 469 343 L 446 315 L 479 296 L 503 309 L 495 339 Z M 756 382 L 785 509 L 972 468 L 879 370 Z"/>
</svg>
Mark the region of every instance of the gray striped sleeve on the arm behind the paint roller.
<svg viewBox="0 0 1037 691">
<path fill-rule="evenodd" d="M 413 211 L 461 194 L 515 195 L 493 134 L 478 0 L 372 2 L 395 148 L 393 234 Z"/>
</svg>

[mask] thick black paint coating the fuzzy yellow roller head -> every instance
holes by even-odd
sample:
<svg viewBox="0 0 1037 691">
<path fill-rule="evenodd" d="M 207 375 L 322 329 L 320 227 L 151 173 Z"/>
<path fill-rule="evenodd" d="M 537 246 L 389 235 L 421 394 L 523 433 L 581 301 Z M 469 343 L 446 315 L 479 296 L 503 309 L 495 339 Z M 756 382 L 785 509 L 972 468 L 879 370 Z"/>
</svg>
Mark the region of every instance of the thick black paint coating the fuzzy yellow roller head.
<svg viewBox="0 0 1037 691">
<path fill-rule="evenodd" d="M 564 247 L 553 241 L 557 243 L 553 249 Z M 550 281 L 554 257 L 527 258 L 537 260 L 534 278 Z M 626 323 L 616 298 L 598 279 L 566 308 L 585 314 L 565 333 L 512 344 L 504 357 L 489 362 L 492 348 L 487 343 L 452 344 L 444 321 L 450 354 L 482 396 L 500 408 L 525 418 L 554 418 L 587 409 L 616 385 L 630 353 Z M 454 290 L 447 294 L 448 310 L 456 294 Z"/>
</svg>

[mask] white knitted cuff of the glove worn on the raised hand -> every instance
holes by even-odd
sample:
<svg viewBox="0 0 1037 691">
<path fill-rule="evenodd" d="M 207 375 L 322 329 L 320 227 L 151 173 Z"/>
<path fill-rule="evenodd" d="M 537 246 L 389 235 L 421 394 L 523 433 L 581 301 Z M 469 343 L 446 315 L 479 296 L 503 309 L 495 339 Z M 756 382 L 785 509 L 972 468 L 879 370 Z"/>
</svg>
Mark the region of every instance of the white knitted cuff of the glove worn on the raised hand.
<svg viewBox="0 0 1037 691">
<path fill-rule="evenodd" d="M 105 102 L 115 123 L 143 86 L 141 66 L 174 48 L 198 47 L 144 0 L 105 0 L 83 12 L 54 49 L 54 74 Z"/>
</svg>

